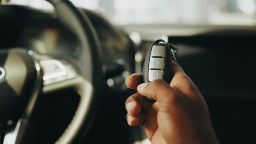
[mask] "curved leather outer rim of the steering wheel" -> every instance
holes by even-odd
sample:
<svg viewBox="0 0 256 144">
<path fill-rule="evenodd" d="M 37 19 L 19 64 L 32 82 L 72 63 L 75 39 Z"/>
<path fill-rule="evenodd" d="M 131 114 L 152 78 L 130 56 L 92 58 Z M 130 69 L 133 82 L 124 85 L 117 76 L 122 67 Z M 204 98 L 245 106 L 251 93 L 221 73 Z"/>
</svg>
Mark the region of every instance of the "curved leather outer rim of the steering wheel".
<svg viewBox="0 0 256 144">
<path fill-rule="evenodd" d="M 59 21 L 77 36 L 81 48 L 77 63 L 85 67 L 81 69 L 81 77 L 77 78 L 73 85 L 80 94 L 77 111 L 64 133 L 56 141 L 58 144 L 68 144 L 75 140 L 83 125 L 88 123 L 89 113 L 96 99 L 97 89 L 100 87 L 102 76 L 100 44 L 88 16 L 78 11 L 69 0 L 47 1 L 54 6 Z"/>
</svg>

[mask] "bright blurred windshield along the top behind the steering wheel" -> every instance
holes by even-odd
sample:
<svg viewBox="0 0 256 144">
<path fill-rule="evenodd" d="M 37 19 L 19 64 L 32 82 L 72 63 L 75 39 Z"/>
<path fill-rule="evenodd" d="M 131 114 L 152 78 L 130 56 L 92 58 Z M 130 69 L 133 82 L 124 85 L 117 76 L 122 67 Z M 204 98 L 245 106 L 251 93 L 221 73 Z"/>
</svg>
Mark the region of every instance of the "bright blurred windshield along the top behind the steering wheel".
<svg viewBox="0 0 256 144">
<path fill-rule="evenodd" d="M 101 13 L 113 24 L 253 25 L 256 0 L 71 0 L 77 7 Z M 10 0 L 43 10 L 45 0 Z"/>
</svg>

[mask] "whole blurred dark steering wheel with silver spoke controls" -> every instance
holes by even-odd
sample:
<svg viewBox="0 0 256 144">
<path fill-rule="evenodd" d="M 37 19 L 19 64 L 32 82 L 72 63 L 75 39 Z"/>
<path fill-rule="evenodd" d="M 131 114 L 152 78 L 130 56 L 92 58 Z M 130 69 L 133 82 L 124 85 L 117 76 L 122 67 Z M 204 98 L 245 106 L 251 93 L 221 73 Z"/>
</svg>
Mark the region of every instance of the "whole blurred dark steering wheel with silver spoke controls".
<svg viewBox="0 0 256 144">
<path fill-rule="evenodd" d="M 0 128 L 8 125 L 3 144 L 24 142 L 22 136 L 40 92 L 73 88 L 80 95 L 75 115 L 56 143 L 72 143 L 82 127 L 89 128 L 103 77 L 99 39 L 87 15 L 71 2 L 47 1 L 59 21 L 77 36 L 81 52 L 72 58 L 40 55 L 25 48 L 0 50 Z"/>
</svg>

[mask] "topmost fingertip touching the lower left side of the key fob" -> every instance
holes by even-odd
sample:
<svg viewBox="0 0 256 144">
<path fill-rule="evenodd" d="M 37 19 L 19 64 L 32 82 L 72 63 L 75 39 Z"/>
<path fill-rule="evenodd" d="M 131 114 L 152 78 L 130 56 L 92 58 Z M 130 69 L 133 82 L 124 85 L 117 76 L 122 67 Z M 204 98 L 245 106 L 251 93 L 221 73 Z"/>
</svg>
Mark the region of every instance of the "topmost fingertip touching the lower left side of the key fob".
<svg viewBox="0 0 256 144">
<path fill-rule="evenodd" d="M 132 74 L 126 78 L 125 84 L 127 88 L 136 89 L 142 83 L 142 74 Z"/>
</svg>

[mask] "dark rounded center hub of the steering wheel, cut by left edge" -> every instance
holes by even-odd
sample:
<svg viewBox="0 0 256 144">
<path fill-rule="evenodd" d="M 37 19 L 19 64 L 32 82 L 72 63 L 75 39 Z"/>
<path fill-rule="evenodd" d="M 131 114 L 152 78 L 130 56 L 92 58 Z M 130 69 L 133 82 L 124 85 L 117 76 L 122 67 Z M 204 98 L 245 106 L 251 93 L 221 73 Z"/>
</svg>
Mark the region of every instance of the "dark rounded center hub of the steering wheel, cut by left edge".
<svg viewBox="0 0 256 144">
<path fill-rule="evenodd" d="M 35 84 L 36 69 L 24 49 L 0 51 L 0 122 L 16 120 L 24 112 Z"/>
</svg>

